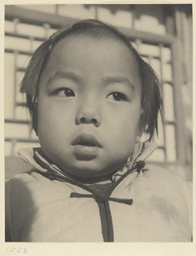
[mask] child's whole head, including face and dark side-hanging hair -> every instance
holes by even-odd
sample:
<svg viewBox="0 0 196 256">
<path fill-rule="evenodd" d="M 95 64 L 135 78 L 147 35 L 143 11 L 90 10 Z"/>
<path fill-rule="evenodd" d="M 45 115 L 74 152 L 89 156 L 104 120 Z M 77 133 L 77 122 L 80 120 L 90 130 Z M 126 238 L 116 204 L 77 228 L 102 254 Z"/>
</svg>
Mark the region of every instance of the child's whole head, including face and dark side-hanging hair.
<svg viewBox="0 0 196 256">
<path fill-rule="evenodd" d="M 43 152 L 74 176 L 115 172 L 157 130 L 158 79 L 123 35 L 98 20 L 56 32 L 22 81 Z"/>
</svg>

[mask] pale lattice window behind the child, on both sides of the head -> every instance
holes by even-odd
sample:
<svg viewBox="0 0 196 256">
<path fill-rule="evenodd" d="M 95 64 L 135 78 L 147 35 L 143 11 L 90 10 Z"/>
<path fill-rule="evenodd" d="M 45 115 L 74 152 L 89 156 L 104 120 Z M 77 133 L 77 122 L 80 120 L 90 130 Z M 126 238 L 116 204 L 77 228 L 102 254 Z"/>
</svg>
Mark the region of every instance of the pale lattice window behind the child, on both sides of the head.
<svg viewBox="0 0 196 256">
<path fill-rule="evenodd" d="M 32 55 L 56 28 L 62 24 L 72 23 L 72 18 L 56 14 L 30 15 L 30 11 L 21 12 L 14 9 L 13 15 L 7 8 L 5 20 L 5 153 L 15 154 L 20 147 L 37 147 L 38 140 L 29 128 L 29 116 L 24 98 L 19 94 L 19 84 L 26 65 Z M 13 9 L 12 9 L 13 10 Z M 97 13 L 95 12 L 95 15 Z M 39 17 L 39 19 L 37 19 Z M 135 44 L 141 56 L 158 73 L 162 81 L 164 95 L 164 128 L 159 127 L 159 149 L 151 157 L 152 161 L 173 162 L 182 160 L 183 152 L 179 145 L 182 131 L 177 122 L 181 119 L 181 104 L 177 93 L 177 73 L 175 58 L 177 55 L 176 38 L 147 32 L 136 32 L 133 29 L 120 29 Z M 11 64 L 10 64 L 11 63 Z M 174 96 L 175 95 L 175 96 Z M 182 122 L 182 120 L 180 120 Z M 180 143 L 180 144 L 179 144 Z"/>
</svg>

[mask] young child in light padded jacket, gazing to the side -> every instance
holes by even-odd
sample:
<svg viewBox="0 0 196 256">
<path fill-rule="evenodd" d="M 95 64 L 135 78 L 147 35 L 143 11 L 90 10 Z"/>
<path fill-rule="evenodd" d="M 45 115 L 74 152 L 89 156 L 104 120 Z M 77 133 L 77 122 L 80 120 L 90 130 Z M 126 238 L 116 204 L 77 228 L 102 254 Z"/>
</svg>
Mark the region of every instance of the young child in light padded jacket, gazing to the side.
<svg viewBox="0 0 196 256">
<path fill-rule="evenodd" d="M 21 84 L 41 148 L 6 183 L 7 241 L 191 241 L 191 193 L 144 160 L 159 82 L 128 40 L 99 20 L 62 28 Z"/>
</svg>

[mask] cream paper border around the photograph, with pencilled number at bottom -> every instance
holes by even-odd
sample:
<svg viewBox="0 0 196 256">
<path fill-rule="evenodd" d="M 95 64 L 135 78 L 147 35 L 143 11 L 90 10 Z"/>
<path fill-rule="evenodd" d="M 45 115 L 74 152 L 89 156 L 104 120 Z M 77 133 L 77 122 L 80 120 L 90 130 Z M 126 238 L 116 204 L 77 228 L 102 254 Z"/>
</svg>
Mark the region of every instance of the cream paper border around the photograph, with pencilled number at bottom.
<svg viewBox="0 0 196 256">
<path fill-rule="evenodd" d="M 192 3 L 193 4 L 193 49 L 195 48 L 195 3 L 196 1 L 65 1 L 65 0 L 2 0 L 0 3 L 0 254 L 9 256 L 9 255 L 31 255 L 31 256 L 49 256 L 49 255 L 79 255 L 79 256 L 87 256 L 87 255 L 101 255 L 105 256 L 108 254 L 111 255 L 151 255 L 151 256 L 181 256 L 181 255 L 188 255 L 192 256 L 196 254 L 196 225 L 195 225 L 195 196 L 193 196 L 193 242 L 124 242 L 124 243 L 60 243 L 60 242 L 4 242 L 4 114 L 3 114 L 3 56 L 4 56 L 4 41 L 3 41 L 3 34 L 4 34 L 4 5 L 25 5 L 25 4 L 99 4 L 99 3 L 127 3 L 127 4 L 142 4 L 142 3 Z M 195 70 L 195 51 L 193 50 L 193 70 Z M 195 76 L 193 75 L 193 116 L 195 115 Z M 195 131 L 195 119 L 193 119 L 193 131 Z M 195 145 L 195 136 L 193 135 L 193 145 Z M 194 147 L 193 147 L 194 148 Z M 193 151 L 194 152 L 194 151 Z M 194 154 L 193 154 L 194 155 Z M 195 158 L 193 159 L 193 166 L 195 166 Z M 195 195 L 195 170 L 193 170 L 193 195 Z M 20 252 L 16 250 L 11 252 L 9 249 L 11 247 L 21 248 Z M 25 250 L 26 249 L 26 250 Z"/>
</svg>

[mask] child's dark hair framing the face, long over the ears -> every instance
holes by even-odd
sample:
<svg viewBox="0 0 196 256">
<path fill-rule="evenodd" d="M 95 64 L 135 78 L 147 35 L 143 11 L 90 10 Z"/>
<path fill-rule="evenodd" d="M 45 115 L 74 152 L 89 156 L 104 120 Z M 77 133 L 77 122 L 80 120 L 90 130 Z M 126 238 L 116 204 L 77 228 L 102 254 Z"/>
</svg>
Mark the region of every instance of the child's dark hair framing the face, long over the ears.
<svg viewBox="0 0 196 256">
<path fill-rule="evenodd" d="M 98 30 L 99 33 L 97 33 Z M 143 61 L 128 38 L 121 32 L 118 32 L 116 28 L 107 25 L 101 20 L 80 20 L 71 26 L 63 26 L 50 36 L 48 40 L 43 42 L 32 55 L 32 59 L 26 68 L 26 73 L 20 84 L 20 92 L 26 94 L 27 107 L 32 116 L 32 128 L 37 133 L 38 86 L 52 48 L 61 38 L 74 34 L 78 35 L 84 31 L 90 33 L 93 37 L 97 37 L 97 34 L 101 36 L 102 31 L 104 36 L 112 36 L 112 38 L 123 42 L 130 49 L 131 53 L 135 55 L 141 77 L 141 108 L 143 113 L 140 119 L 140 129 L 141 132 L 145 131 L 149 134 L 150 141 L 155 131 L 158 134 L 158 115 L 162 113 L 159 79 L 153 68 Z"/>
</svg>

